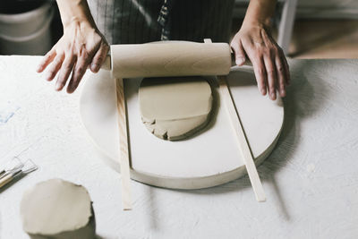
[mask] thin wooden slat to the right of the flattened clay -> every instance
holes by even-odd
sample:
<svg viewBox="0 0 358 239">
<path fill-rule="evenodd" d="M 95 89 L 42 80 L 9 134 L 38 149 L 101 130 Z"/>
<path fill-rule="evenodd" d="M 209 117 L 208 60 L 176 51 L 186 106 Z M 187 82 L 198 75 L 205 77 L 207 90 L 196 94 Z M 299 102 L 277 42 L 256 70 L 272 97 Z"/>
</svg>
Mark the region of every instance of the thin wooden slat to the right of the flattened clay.
<svg viewBox="0 0 358 239">
<path fill-rule="evenodd" d="M 265 192 L 260 181 L 259 174 L 257 172 L 255 163 L 251 155 L 250 146 L 246 140 L 245 133 L 243 131 L 243 125 L 241 124 L 240 117 L 234 106 L 234 99 L 231 97 L 230 90 L 228 89 L 226 76 L 218 76 L 221 97 L 226 105 L 227 115 L 230 118 L 231 125 L 234 129 L 234 134 L 238 141 L 239 149 L 243 156 L 243 162 L 246 166 L 247 173 L 249 175 L 253 192 L 255 192 L 257 201 L 266 201 Z"/>
</svg>

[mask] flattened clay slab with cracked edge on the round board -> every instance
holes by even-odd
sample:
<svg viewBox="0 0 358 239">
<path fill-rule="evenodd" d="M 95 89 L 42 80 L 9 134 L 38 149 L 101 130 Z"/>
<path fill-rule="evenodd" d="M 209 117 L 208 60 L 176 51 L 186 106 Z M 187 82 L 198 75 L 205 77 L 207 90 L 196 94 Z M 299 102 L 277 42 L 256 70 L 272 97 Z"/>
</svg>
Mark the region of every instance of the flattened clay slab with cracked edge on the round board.
<svg viewBox="0 0 358 239">
<path fill-rule="evenodd" d="M 158 138 L 183 140 L 209 123 L 209 82 L 200 76 L 145 78 L 139 90 L 141 120 Z"/>
</svg>

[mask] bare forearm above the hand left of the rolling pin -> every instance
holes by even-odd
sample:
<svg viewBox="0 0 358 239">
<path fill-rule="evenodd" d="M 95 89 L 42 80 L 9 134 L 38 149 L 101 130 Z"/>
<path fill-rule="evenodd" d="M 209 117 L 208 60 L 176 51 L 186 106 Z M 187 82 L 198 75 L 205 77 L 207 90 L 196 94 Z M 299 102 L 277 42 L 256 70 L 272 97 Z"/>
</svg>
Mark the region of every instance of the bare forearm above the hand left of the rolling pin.
<svg viewBox="0 0 358 239">
<path fill-rule="evenodd" d="M 57 0 L 64 29 L 73 22 L 96 27 L 86 0 Z"/>
</svg>

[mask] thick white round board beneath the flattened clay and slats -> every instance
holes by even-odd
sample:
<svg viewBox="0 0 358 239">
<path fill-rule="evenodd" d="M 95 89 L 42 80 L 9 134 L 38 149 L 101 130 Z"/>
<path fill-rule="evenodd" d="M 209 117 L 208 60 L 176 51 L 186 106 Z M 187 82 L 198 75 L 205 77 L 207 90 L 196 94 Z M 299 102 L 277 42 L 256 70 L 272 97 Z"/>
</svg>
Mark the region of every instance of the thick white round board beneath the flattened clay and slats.
<svg viewBox="0 0 358 239">
<path fill-rule="evenodd" d="M 214 81 L 214 85 L 216 80 Z M 284 122 L 281 98 L 262 97 L 249 66 L 233 67 L 227 81 L 257 166 L 274 149 Z M 115 80 L 109 71 L 86 73 L 81 91 L 82 123 L 90 138 L 116 171 L 119 167 L 119 134 Z M 198 189 L 225 184 L 246 174 L 243 158 L 220 93 L 211 124 L 184 141 L 163 141 L 141 122 L 138 89 L 141 79 L 126 79 L 131 177 L 144 184 L 176 189 Z"/>
</svg>

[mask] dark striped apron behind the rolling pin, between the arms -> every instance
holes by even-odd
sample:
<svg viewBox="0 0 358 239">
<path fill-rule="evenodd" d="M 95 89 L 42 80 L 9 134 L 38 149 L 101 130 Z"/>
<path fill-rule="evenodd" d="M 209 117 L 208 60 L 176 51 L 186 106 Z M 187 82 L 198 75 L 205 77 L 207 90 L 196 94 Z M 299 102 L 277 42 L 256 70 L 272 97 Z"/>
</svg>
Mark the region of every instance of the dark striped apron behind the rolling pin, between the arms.
<svg viewBox="0 0 358 239">
<path fill-rule="evenodd" d="M 109 44 L 228 42 L 234 0 L 88 0 Z"/>
</svg>

